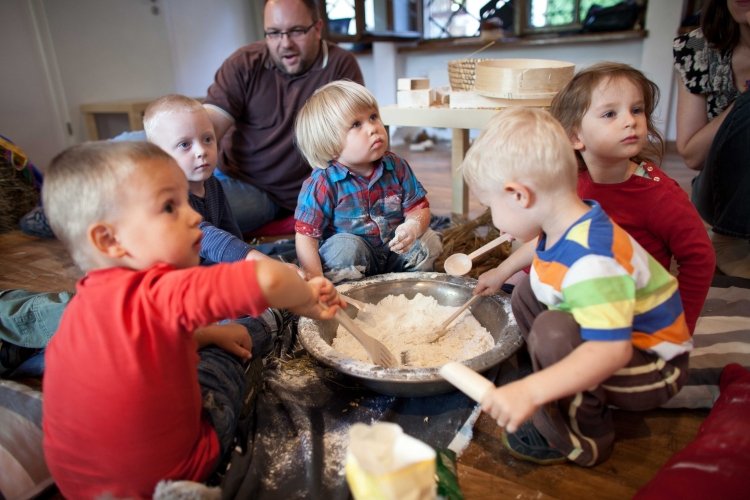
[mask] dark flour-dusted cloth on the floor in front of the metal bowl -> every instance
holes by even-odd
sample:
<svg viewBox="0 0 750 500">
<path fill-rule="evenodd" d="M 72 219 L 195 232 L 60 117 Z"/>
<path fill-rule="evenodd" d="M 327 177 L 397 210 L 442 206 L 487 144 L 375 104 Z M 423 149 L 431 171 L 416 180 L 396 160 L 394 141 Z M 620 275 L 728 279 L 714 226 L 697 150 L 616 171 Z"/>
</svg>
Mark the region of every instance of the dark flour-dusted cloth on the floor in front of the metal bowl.
<svg viewBox="0 0 750 500">
<path fill-rule="evenodd" d="M 496 384 L 517 375 L 515 360 L 485 374 Z M 397 423 L 406 434 L 443 449 L 457 435 L 457 442 L 468 444 L 464 433 L 471 432 L 476 407 L 459 392 L 421 398 L 377 394 L 304 351 L 274 359 L 263 370 L 247 447 L 233 454 L 222 497 L 351 498 L 344 465 L 354 423 Z"/>
</svg>

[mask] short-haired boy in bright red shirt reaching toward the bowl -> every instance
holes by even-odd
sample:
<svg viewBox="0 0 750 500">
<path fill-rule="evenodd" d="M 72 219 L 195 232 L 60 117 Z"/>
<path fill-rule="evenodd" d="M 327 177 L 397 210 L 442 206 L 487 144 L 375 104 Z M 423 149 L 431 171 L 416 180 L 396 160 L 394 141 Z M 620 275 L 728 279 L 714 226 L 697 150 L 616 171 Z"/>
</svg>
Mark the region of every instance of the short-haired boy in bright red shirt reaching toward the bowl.
<svg viewBox="0 0 750 500">
<path fill-rule="evenodd" d="M 174 159 L 146 142 L 73 146 L 46 171 L 50 224 L 86 272 L 46 352 L 44 451 L 67 498 L 147 498 L 161 479 L 208 478 L 233 446 L 245 380 L 232 353 L 249 337 L 194 332 L 269 305 L 319 318 L 340 305 L 330 282 L 271 259 L 197 266 L 187 193 Z"/>
</svg>

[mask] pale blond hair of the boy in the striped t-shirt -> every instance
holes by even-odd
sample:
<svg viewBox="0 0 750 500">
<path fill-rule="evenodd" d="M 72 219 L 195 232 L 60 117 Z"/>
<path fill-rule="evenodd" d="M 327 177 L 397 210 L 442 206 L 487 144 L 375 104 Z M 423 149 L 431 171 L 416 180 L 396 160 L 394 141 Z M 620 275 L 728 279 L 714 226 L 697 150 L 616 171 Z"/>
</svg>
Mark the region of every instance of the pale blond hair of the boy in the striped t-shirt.
<svg viewBox="0 0 750 500">
<path fill-rule="evenodd" d="M 469 148 L 461 169 L 469 186 L 479 191 L 499 191 L 506 182 L 524 180 L 545 191 L 576 189 L 570 139 L 543 109 L 498 112 Z"/>
</svg>

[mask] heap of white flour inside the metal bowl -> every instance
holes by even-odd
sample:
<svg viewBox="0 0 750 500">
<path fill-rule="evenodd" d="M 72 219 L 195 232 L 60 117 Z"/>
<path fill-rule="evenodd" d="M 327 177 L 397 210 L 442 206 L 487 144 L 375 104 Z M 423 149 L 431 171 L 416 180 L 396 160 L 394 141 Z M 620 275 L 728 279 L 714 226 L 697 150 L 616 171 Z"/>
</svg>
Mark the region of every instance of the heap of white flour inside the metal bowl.
<svg viewBox="0 0 750 500">
<path fill-rule="evenodd" d="M 489 351 L 495 344 L 490 332 L 468 309 L 453 322 L 445 336 L 430 343 L 440 324 L 457 309 L 458 306 L 441 306 L 433 297 L 422 294 L 411 300 L 405 295 L 388 295 L 360 312 L 354 321 L 383 342 L 397 358 L 406 352 L 410 365 L 439 366 L 448 361 L 473 358 Z M 371 362 L 362 345 L 341 326 L 332 345 L 352 359 Z"/>
</svg>

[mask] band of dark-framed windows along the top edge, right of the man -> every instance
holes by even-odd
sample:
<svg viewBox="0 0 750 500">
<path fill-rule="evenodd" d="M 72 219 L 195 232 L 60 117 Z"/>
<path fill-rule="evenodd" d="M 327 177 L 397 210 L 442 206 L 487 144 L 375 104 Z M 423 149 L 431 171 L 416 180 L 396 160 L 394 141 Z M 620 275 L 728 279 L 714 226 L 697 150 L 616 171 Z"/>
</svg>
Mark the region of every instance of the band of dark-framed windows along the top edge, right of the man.
<svg viewBox="0 0 750 500">
<path fill-rule="evenodd" d="M 366 38 L 478 37 L 483 32 L 523 36 L 545 32 L 632 29 L 646 0 L 326 0 L 329 37 Z M 589 10 L 621 4 L 619 12 L 600 14 L 586 25 Z M 631 20 L 628 25 L 628 21 Z M 623 27 L 624 26 L 624 27 Z"/>
</svg>

